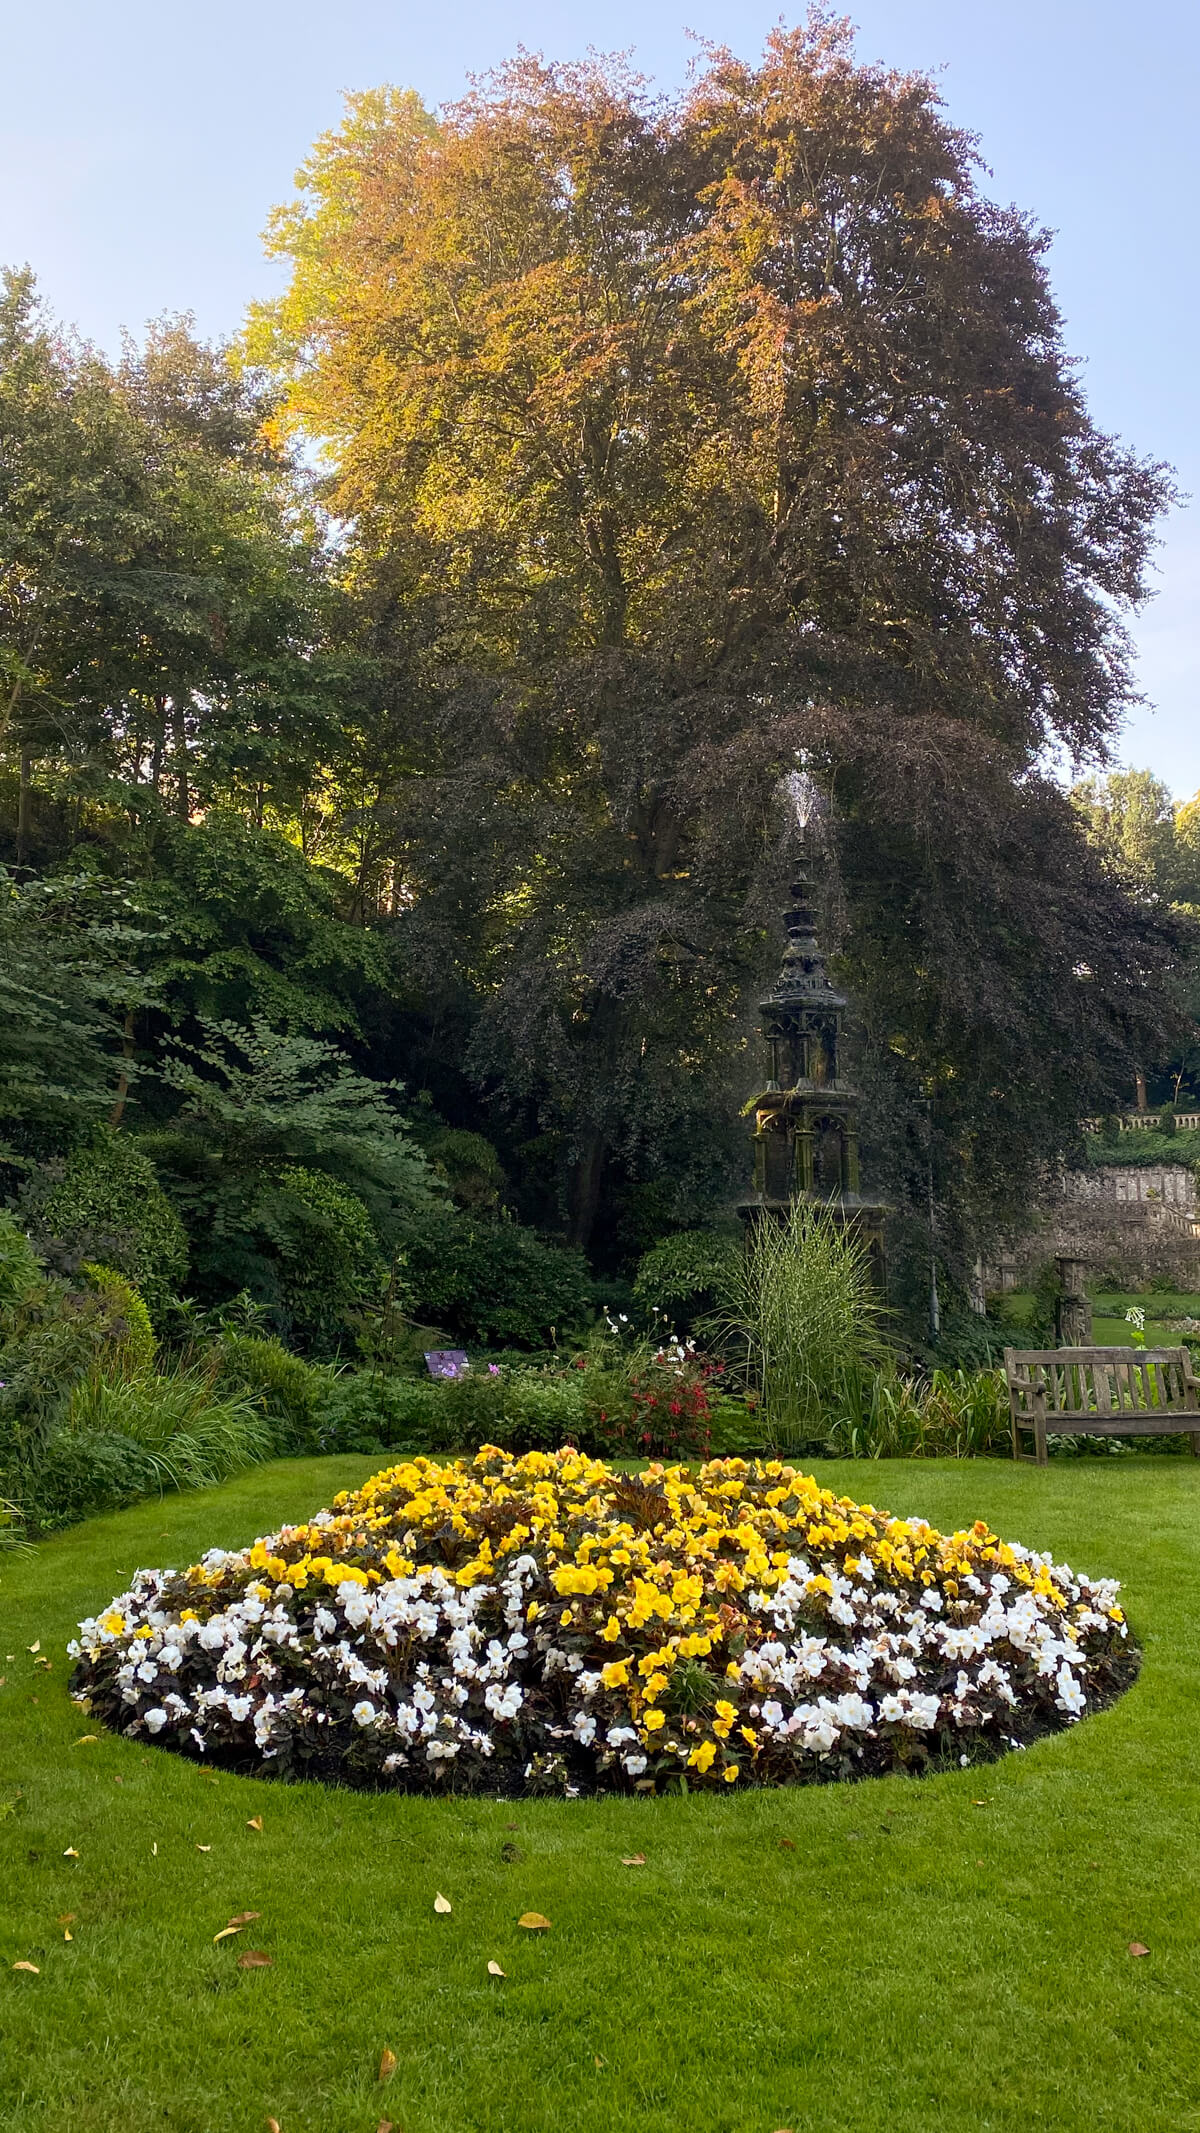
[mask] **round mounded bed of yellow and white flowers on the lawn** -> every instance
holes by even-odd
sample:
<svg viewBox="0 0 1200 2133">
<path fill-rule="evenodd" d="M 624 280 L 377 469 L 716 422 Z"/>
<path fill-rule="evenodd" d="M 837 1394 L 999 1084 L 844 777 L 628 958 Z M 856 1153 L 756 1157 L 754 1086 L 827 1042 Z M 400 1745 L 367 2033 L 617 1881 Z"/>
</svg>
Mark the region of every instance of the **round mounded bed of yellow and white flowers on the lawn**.
<svg viewBox="0 0 1200 2133">
<path fill-rule="evenodd" d="M 1113 1581 L 778 1461 L 411 1459 L 141 1570 L 75 1696 L 237 1770 L 431 1792 L 778 1785 L 976 1762 L 1136 1672 Z"/>
</svg>

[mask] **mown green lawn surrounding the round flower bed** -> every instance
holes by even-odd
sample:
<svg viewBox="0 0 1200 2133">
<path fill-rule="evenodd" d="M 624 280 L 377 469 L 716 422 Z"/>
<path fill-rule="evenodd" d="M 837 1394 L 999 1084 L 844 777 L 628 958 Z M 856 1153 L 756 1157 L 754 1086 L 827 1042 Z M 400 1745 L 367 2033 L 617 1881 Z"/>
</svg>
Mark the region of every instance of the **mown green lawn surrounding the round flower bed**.
<svg viewBox="0 0 1200 2133">
<path fill-rule="evenodd" d="M 505 1805 L 77 1745 L 79 1615 L 369 1465 L 279 1463 L 2 1561 L 4 2129 L 1200 2133 L 1200 1461 L 821 1468 L 1125 1583 L 1138 1685 L 987 1773 Z"/>
</svg>

